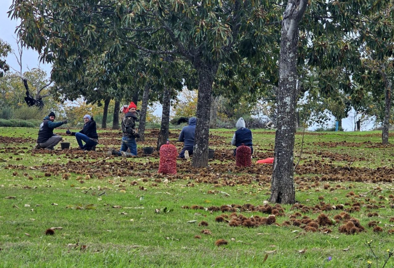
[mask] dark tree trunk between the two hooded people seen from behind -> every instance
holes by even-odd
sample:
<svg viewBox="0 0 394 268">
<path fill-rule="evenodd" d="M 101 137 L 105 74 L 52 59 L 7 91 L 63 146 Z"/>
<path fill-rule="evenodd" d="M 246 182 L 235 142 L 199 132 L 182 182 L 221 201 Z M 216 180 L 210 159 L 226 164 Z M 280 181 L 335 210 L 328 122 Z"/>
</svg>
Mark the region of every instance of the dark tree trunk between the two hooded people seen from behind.
<svg viewBox="0 0 394 268">
<path fill-rule="evenodd" d="M 218 64 L 197 62 L 198 73 L 197 125 L 193 149 L 193 167 L 208 166 L 209 117 L 211 112 L 212 84 Z"/>
</svg>

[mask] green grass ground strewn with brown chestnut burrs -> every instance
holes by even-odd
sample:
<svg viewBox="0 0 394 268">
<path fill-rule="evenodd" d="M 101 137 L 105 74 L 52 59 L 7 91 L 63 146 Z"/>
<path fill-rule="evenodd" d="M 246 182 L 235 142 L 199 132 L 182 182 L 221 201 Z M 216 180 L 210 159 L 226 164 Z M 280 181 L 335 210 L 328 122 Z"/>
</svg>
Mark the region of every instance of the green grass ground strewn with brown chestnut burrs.
<svg viewBox="0 0 394 268">
<path fill-rule="evenodd" d="M 0 267 L 381 268 L 394 250 L 394 146 L 380 132 L 305 133 L 294 206 L 266 202 L 272 166 L 256 160 L 274 132 L 254 130 L 253 164 L 237 168 L 233 130 L 211 130 L 209 167 L 178 160 L 171 176 L 142 154 L 147 132 L 122 158 L 106 154 L 119 131 L 100 130 L 96 152 L 66 136 L 69 150 L 32 152 L 36 129 L 0 128 Z"/>
</svg>

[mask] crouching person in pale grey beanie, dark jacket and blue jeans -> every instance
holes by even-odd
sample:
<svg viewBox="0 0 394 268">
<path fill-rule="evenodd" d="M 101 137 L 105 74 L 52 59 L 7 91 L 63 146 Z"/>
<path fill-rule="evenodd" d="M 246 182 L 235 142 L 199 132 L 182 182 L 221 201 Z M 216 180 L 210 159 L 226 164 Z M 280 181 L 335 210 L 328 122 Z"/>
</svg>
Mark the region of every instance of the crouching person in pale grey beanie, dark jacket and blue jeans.
<svg viewBox="0 0 394 268">
<path fill-rule="evenodd" d="M 66 134 L 75 136 L 80 150 L 95 151 L 96 145 L 99 143 L 99 135 L 97 134 L 96 121 L 90 115 L 84 115 L 85 124 L 79 132 L 71 132 L 67 129 Z M 85 145 L 82 144 L 85 142 Z"/>
</svg>

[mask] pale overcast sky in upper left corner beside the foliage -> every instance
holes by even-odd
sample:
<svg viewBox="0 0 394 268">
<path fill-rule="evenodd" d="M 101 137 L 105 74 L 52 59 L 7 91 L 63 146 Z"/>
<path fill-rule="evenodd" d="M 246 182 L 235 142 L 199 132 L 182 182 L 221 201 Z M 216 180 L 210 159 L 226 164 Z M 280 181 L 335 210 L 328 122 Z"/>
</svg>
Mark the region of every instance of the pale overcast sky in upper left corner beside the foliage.
<svg viewBox="0 0 394 268">
<path fill-rule="evenodd" d="M 15 28 L 18 22 L 8 18 L 8 9 L 12 4 L 12 0 L 0 0 L 0 38 L 11 45 L 11 48 L 18 53 L 18 46 L 16 44 L 15 38 L 17 37 L 15 33 Z M 8 55 L 6 61 L 10 67 L 19 70 L 18 62 L 13 54 Z M 51 65 L 39 63 L 38 53 L 32 49 L 24 49 L 22 56 L 22 71 L 25 72 L 28 68 L 32 69 L 40 65 L 41 69 L 45 70 L 50 75 Z M 12 69 L 11 69 L 12 70 Z"/>
</svg>

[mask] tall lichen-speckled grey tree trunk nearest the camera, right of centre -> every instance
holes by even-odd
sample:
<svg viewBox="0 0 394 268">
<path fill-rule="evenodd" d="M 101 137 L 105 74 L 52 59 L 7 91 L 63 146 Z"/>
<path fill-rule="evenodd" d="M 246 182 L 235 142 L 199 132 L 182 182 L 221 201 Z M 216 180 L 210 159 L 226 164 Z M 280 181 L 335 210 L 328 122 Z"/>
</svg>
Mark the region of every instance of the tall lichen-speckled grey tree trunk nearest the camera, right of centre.
<svg viewBox="0 0 394 268">
<path fill-rule="evenodd" d="M 289 0 L 283 15 L 279 90 L 277 96 L 274 164 L 269 201 L 280 204 L 296 203 L 294 188 L 294 136 L 296 130 L 295 107 L 297 97 L 297 44 L 298 24 L 306 8 L 306 0 Z"/>
</svg>

